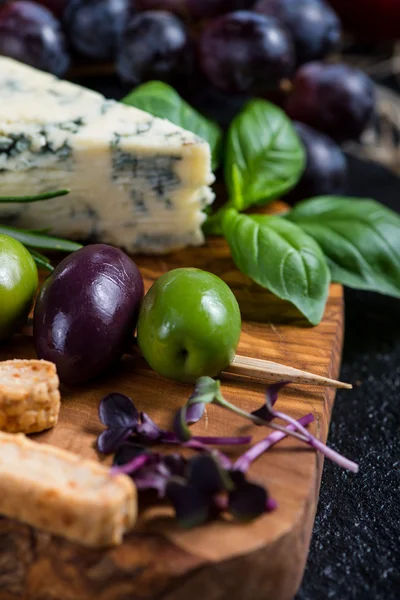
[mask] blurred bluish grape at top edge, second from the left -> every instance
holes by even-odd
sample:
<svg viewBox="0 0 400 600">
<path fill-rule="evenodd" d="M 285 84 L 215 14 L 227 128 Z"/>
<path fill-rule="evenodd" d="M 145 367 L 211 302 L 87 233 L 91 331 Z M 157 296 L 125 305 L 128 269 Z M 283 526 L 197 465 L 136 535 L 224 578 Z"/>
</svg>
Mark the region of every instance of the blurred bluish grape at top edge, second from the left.
<svg viewBox="0 0 400 600">
<path fill-rule="evenodd" d="M 77 52 L 98 60 L 115 58 L 131 0 L 70 0 L 64 14 L 68 39 Z"/>
</svg>

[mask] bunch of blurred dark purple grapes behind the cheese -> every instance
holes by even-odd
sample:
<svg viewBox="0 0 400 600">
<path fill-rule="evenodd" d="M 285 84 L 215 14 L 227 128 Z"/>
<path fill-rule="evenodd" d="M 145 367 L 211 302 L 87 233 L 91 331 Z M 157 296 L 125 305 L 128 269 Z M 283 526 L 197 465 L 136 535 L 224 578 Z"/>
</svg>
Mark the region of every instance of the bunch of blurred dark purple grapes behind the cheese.
<svg viewBox="0 0 400 600">
<path fill-rule="evenodd" d="M 279 98 L 304 124 L 298 125 L 308 155 L 303 188 L 334 193 L 346 173 L 336 143 L 364 131 L 373 116 L 374 87 L 361 71 L 325 62 L 339 49 L 342 33 L 332 4 L 9 0 L 0 3 L 0 54 L 59 76 L 71 55 L 113 61 L 129 86 L 158 79 L 191 98 L 196 85 L 227 100 Z"/>
</svg>

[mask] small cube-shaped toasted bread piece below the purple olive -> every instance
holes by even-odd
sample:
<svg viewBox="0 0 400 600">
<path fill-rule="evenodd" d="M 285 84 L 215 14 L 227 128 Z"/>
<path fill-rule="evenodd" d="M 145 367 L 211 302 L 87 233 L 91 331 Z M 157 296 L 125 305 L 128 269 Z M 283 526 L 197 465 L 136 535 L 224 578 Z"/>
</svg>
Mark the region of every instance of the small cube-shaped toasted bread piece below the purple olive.
<svg viewBox="0 0 400 600">
<path fill-rule="evenodd" d="M 60 412 L 59 380 L 44 360 L 0 362 L 0 430 L 37 433 L 54 427 Z"/>
</svg>

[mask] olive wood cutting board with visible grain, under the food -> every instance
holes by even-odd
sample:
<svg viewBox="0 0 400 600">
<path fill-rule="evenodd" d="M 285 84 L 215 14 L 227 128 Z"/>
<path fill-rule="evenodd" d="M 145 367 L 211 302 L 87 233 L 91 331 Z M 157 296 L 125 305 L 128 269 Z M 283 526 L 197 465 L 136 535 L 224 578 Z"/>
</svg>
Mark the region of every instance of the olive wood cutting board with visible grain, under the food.
<svg viewBox="0 0 400 600">
<path fill-rule="evenodd" d="M 180 266 L 200 267 L 221 276 L 241 306 L 241 355 L 338 377 L 343 340 L 340 286 L 331 287 L 325 317 L 311 328 L 294 308 L 241 275 L 222 240 L 167 257 L 136 260 L 146 288 L 165 271 Z M 34 357 L 30 337 L 15 336 L 0 347 L 0 359 L 16 357 Z M 264 389 L 251 379 L 223 381 L 226 397 L 247 410 L 262 403 Z M 128 356 L 101 381 L 62 388 L 59 424 L 33 437 L 103 460 L 94 443 L 102 430 L 97 407 L 104 394 L 130 395 L 140 410 L 168 428 L 191 390 L 191 386 L 158 376 L 140 357 Z M 313 412 L 311 430 L 325 441 L 333 400 L 332 389 L 292 384 L 277 406 L 296 418 Z M 216 406 L 207 407 L 195 431 L 213 436 L 251 433 L 253 441 L 270 432 Z M 234 450 L 232 456 L 241 451 Z M 293 438 L 286 439 L 250 471 L 276 499 L 274 512 L 250 524 L 219 520 L 186 531 L 177 527 L 167 505 L 143 498 L 137 527 L 122 546 L 104 551 L 0 518 L 0 600 L 290 600 L 303 575 L 322 465 L 320 455 Z"/>
</svg>

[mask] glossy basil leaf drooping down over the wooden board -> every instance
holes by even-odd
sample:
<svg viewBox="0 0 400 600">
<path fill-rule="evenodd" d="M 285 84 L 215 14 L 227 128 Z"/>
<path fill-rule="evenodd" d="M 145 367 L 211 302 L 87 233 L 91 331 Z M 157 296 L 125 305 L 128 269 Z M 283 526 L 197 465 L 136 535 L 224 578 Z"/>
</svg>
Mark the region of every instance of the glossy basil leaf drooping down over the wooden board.
<svg viewBox="0 0 400 600">
<path fill-rule="evenodd" d="M 316 325 L 329 293 L 329 269 L 318 244 L 281 217 L 225 212 L 222 229 L 236 266 Z"/>
</svg>

